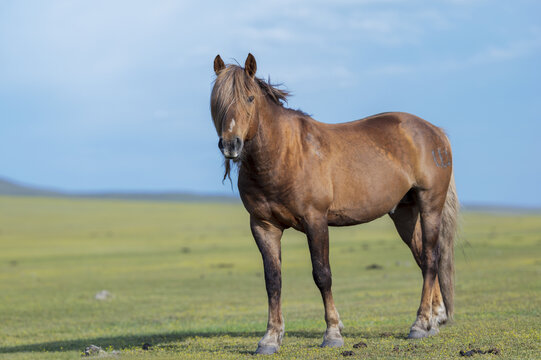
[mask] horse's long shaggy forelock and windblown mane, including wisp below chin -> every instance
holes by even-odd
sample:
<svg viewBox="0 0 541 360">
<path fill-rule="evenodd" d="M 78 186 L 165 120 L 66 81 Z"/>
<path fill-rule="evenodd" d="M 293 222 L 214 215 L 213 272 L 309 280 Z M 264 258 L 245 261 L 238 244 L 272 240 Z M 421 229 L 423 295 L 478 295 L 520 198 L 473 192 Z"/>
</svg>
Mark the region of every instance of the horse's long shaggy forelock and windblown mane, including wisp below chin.
<svg viewBox="0 0 541 360">
<path fill-rule="evenodd" d="M 250 79 L 244 68 L 233 64 L 221 70 L 219 76 L 216 77 L 210 97 L 210 112 L 218 135 L 220 135 L 227 111 L 233 103 L 237 103 L 237 106 L 241 106 L 245 111 L 248 111 L 246 99 L 252 95 L 264 96 L 280 106 L 287 103 L 290 94 L 286 90 L 278 89 L 277 86 L 280 84 L 272 84 L 270 78 L 265 81 L 255 77 L 254 80 Z M 228 177 L 231 180 L 230 171 L 230 160 L 225 159 L 224 180 Z"/>
</svg>

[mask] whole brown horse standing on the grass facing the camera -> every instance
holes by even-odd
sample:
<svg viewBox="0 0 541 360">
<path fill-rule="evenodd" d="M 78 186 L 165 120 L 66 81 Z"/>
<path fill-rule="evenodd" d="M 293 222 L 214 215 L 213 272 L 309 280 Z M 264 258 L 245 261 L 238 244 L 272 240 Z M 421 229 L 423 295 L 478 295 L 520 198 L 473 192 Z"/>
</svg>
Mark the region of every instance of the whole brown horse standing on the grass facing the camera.
<svg viewBox="0 0 541 360">
<path fill-rule="evenodd" d="M 267 332 L 256 353 L 279 350 L 282 232 L 304 232 L 314 281 L 325 306 L 321 346 L 342 346 L 342 322 L 331 292 L 328 226 L 366 223 L 389 214 L 423 274 L 421 304 L 409 338 L 438 333 L 453 315 L 458 199 L 451 146 L 438 127 L 406 113 L 324 124 L 283 106 L 288 93 L 245 67 L 214 59 L 212 119 L 226 162 L 239 167 L 238 187 L 263 257 L 269 301 Z"/>
</svg>

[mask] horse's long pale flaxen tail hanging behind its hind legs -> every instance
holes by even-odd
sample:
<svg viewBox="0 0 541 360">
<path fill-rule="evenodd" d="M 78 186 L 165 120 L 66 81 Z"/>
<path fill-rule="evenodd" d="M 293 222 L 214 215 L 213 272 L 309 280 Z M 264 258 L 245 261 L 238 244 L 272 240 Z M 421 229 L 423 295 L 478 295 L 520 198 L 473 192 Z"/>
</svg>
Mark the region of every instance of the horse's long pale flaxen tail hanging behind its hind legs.
<svg viewBox="0 0 541 360">
<path fill-rule="evenodd" d="M 451 182 L 447 190 L 447 197 L 443 207 L 440 227 L 440 262 L 438 266 L 438 279 L 443 303 L 447 310 L 447 318 L 452 320 L 455 297 L 455 264 L 454 239 L 457 233 L 457 218 L 460 209 L 456 194 L 455 177 L 451 174 Z"/>
</svg>

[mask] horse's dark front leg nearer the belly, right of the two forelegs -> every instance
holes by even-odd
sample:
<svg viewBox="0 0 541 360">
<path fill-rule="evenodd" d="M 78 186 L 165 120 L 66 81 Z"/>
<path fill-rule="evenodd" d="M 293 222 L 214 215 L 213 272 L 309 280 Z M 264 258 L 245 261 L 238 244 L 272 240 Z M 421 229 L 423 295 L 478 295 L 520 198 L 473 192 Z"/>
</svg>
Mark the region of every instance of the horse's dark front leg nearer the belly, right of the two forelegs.
<svg viewBox="0 0 541 360">
<path fill-rule="evenodd" d="M 322 347 L 340 347 L 344 345 L 341 330 L 344 325 L 340 321 L 338 311 L 332 297 L 332 275 L 329 264 L 329 226 L 325 216 L 314 216 L 305 223 L 305 233 L 308 237 L 310 257 L 312 259 L 312 275 L 323 304 L 325 306 L 325 322 L 327 330 L 323 336 Z"/>
</svg>

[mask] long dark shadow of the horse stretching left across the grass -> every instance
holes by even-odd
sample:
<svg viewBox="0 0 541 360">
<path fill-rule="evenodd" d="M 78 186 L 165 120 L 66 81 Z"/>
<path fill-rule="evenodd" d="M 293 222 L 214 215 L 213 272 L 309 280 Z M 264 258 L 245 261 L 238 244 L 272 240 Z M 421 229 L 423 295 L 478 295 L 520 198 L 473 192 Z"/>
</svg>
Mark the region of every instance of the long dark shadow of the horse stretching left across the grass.
<svg viewBox="0 0 541 360">
<path fill-rule="evenodd" d="M 294 330 L 287 331 L 287 337 L 298 337 L 304 339 L 312 339 L 317 343 L 323 337 L 322 331 L 302 331 Z M 112 336 L 112 337 L 94 337 L 84 339 L 72 339 L 72 340 L 60 340 L 51 342 L 42 342 L 36 344 L 16 345 L 16 346 L 2 346 L 0 347 L 0 354 L 19 353 L 19 352 L 62 352 L 62 351 L 74 351 L 78 350 L 83 352 L 87 346 L 97 345 L 102 348 L 113 349 L 133 349 L 142 348 L 143 344 L 159 344 L 162 348 L 176 348 L 177 342 L 182 342 L 185 339 L 200 337 L 200 338 L 213 338 L 228 336 L 231 338 L 246 338 L 255 337 L 260 338 L 263 336 L 263 331 L 176 331 L 168 333 L 155 333 L 155 334 L 140 334 L 140 335 L 125 335 L 125 336 Z M 344 334 L 348 338 L 358 339 L 374 339 L 392 337 L 396 339 L 404 338 L 402 333 L 376 333 L 376 332 L 359 332 Z M 236 349 L 235 352 L 239 352 L 240 349 Z M 241 351 L 242 352 L 242 351 Z"/>
</svg>

